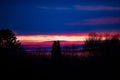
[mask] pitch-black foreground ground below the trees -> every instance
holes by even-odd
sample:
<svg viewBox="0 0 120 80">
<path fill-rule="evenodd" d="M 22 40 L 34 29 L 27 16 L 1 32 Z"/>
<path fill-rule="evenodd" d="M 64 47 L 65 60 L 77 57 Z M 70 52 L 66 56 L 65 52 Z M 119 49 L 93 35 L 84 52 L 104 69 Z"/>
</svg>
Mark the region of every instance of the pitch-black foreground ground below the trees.
<svg viewBox="0 0 120 80">
<path fill-rule="evenodd" d="M 116 74 L 113 58 L 64 56 L 52 61 L 49 56 L 24 56 L 4 60 L 4 78 L 8 79 L 108 80 Z"/>
</svg>

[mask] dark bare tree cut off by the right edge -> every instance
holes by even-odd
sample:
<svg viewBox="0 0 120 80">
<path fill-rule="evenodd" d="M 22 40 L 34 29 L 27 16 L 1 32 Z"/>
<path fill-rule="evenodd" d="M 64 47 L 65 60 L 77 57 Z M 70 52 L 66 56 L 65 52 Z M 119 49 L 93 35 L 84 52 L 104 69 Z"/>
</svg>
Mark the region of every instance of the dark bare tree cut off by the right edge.
<svg viewBox="0 0 120 80">
<path fill-rule="evenodd" d="M 109 36 L 110 37 L 110 36 Z M 120 35 L 115 34 L 106 38 L 102 43 L 102 53 L 107 56 L 120 56 Z"/>
</svg>

